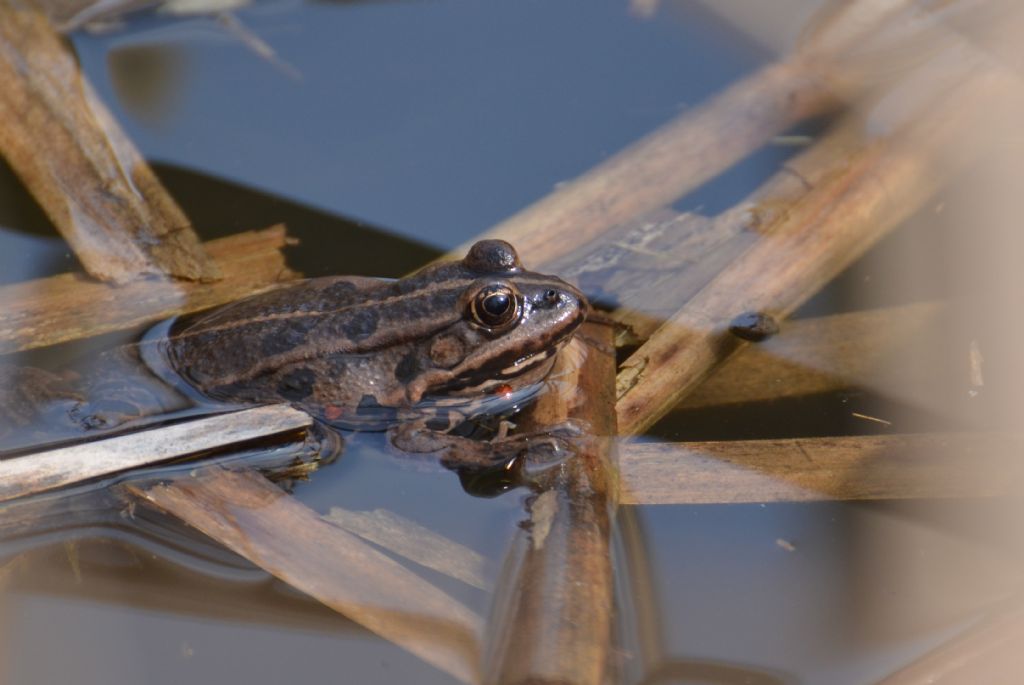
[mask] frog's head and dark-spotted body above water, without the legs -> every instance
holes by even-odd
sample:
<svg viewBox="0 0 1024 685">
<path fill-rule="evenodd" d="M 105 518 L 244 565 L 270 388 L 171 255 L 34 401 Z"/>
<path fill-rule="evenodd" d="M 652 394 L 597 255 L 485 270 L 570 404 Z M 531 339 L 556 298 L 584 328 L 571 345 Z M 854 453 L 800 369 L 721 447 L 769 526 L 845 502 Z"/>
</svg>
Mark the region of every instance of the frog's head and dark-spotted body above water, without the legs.
<svg viewBox="0 0 1024 685">
<path fill-rule="evenodd" d="M 216 399 L 291 401 L 345 423 L 370 404 L 535 383 L 586 311 L 574 288 L 485 240 L 398 281 L 315 279 L 200 314 L 167 356 Z"/>
</svg>

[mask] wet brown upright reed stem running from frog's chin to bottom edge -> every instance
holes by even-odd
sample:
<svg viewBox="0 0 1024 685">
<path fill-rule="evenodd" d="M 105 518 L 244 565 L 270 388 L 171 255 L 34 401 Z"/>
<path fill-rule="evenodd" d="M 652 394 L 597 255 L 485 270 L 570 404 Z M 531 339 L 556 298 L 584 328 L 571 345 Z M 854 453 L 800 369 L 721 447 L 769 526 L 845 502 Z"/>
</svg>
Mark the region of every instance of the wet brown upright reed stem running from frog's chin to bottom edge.
<svg viewBox="0 0 1024 685">
<path fill-rule="evenodd" d="M 611 641 L 610 524 L 617 487 L 614 358 L 606 326 L 587 325 L 559 357 L 553 389 L 538 400 L 527 430 L 583 425 L 574 454 L 544 475 L 513 540 L 499 582 L 484 654 L 486 683 L 606 681 Z M 586 350 L 573 363 L 566 357 Z M 560 376 L 560 377 L 559 377 Z M 528 456 L 526 457 L 528 460 Z"/>
</svg>

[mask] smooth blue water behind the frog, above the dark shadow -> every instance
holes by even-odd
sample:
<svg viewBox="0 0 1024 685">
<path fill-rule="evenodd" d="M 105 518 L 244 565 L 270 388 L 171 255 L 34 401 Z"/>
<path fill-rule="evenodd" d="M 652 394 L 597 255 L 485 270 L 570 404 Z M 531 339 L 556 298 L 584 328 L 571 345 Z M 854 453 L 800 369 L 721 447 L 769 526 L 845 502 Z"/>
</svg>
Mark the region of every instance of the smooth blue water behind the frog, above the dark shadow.
<svg viewBox="0 0 1024 685">
<path fill-rule="evenodd" d="M 75 46 L 146 157 L 441 249 L 766 56 L 685 3 L 651 20 L 610 0 L 269 3 L 237 16 L 298 78 L 208 17 L 142 16 Z"/>
</svg>

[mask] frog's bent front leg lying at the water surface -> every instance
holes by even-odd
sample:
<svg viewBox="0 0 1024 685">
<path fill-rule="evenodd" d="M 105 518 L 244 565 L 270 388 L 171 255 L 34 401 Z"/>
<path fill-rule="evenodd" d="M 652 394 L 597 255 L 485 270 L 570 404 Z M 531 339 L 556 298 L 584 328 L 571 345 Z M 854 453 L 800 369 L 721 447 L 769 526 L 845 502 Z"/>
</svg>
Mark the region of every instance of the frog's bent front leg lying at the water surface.
<svg viewBox="0 0 1024 685">
<path fill-rule="evenodd" d="M 434 455 L 454 471 L 513 470 L 560 463 L 573 454 L 566 438 L 579 434 L 580 429 L 564 424 L 543 433 L 505 432 L 500 429 L 497 437 L 477 440 L 436 430 L 427 422 L 408 422 L 389 429 L 388 441 L 403 453 Z"/>
</svg>

